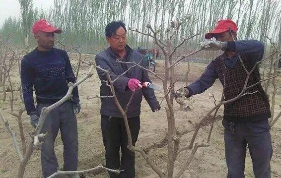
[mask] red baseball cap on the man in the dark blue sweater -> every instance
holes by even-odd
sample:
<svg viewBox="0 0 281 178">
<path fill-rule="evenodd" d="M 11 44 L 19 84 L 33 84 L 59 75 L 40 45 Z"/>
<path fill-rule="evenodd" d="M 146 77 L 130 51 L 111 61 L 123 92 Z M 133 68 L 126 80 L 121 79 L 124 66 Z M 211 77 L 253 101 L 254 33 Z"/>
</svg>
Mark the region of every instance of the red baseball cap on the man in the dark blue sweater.
<svg viewBox="0 0 281 178">
<path fill-rule="evenodd" d="M 47 32 L 47 33 L 62 33 L 62 30 L 59 28 L 53 27 L 47 20 L 41 19 L 37 20 L 32 26 L 33 35 L 36 35 L 38 31 Z"/>
</svg>

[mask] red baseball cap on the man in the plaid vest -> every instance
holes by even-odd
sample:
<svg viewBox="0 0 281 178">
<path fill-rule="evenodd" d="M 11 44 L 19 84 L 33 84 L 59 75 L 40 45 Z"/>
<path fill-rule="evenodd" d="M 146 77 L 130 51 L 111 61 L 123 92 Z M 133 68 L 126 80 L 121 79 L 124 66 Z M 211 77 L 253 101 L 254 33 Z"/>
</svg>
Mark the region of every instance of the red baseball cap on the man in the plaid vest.
<svg viewBox="0 0 281 178">
<path fill-rule="evenodd" d="M 234 32 L 238 31 L 238 27 L 235 22 L 230 19 L 219 20 L 214 29 L 205 35 L 206 39 L 211 39 L 216 34 L 226 32 L 228 30 L 232 30 Z"/>
</svg>

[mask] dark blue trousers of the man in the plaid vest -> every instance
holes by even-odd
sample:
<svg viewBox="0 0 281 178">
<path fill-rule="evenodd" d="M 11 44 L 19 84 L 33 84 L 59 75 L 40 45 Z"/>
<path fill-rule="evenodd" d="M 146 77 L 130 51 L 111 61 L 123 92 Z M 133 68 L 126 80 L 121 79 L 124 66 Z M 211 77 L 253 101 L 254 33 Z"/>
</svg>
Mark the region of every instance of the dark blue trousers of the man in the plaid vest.
<svg viewBox="0 0 281 178">
<path fill-rule="evenodd" d="M 246 148 L 249 147 L 255 178 L 271 178 L 272 143 L 268 120 L 234 123 L 223 120 L 227 178 L 245 178 Z"/>
</svg>

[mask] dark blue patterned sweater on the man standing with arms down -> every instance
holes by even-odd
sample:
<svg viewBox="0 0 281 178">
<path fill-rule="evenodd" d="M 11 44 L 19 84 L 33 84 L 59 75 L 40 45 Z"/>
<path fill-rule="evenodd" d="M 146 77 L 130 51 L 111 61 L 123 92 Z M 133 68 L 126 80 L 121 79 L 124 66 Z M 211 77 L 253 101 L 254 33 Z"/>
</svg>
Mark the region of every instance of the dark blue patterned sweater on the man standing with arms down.
<svg viewBox="0 0 281 178">
<path fill-rule="evenodd" d="M 67 94 L 68 82 L 75 83 L 66 51 L 53 48 L 49 52 L 33 50 L 21 60 L 21 85 L 27 114 L 35 112 L 33 89 L 37 103 L 54 104 Z M 73 102 L 79 102 L 78 89 L 72 91 Z"/>
</svg>

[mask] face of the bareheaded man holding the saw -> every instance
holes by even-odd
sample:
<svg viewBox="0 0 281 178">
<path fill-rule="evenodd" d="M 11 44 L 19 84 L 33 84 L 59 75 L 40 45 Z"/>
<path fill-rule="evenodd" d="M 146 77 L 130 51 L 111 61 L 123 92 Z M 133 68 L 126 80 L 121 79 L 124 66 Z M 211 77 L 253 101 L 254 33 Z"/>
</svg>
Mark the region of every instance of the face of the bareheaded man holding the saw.
<svg viewBox="0 0 281 178">
<path fill-rule="evenodd" d="M 119 27 L 115 34 L 111 37 L 106 37 L 109 46 L 116 52 L 123 51 L 126 48 L 127 37 L 123 27 Z"/>
</svg>

